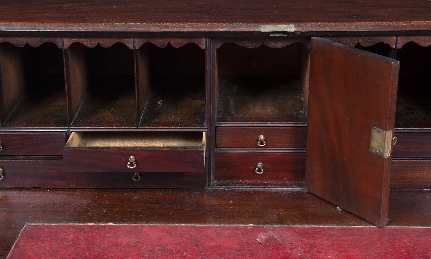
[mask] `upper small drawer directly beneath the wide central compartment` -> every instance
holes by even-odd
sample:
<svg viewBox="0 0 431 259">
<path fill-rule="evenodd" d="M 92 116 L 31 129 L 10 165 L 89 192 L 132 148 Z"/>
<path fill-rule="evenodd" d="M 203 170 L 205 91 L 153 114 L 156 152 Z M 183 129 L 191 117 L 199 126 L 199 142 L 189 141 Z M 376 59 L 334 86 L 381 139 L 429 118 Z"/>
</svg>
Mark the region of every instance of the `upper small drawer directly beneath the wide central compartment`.
<svg viewBox="0 0 431 259">
<path fill-rule="evenodd" d="M 216 137 L 217 147 L 305 149 L 306 136 L 306 127 L 217 127 Z"/>
</svg>

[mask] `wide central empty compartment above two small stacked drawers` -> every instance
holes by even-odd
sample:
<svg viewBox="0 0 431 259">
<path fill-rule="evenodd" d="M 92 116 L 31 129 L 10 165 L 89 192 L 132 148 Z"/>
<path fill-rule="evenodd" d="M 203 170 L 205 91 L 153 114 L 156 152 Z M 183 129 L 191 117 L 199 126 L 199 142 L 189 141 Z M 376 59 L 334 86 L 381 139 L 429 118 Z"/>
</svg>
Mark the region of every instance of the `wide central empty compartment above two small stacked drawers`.
<svg viewBox="0 0 431 259">
<path fill-rule="evenodd" d="M 217 53 L 217 123 L 307 122 L 309 49 L 223 44 Z"/>
</svg>

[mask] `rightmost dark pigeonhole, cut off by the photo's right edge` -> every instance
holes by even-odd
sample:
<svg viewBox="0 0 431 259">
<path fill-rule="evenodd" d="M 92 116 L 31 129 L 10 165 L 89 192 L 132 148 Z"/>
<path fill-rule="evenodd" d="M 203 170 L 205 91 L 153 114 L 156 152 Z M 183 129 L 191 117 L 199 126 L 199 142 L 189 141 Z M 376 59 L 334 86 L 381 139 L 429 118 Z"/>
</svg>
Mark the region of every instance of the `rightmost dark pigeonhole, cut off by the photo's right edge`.
<svg viewBox="0 0 431 259">
<path fill-rule="evenodd" d="M 431 128 L 431 46 L 414 42 L 397 50 L 400 60 L 395 128 Z"/>
</svg>

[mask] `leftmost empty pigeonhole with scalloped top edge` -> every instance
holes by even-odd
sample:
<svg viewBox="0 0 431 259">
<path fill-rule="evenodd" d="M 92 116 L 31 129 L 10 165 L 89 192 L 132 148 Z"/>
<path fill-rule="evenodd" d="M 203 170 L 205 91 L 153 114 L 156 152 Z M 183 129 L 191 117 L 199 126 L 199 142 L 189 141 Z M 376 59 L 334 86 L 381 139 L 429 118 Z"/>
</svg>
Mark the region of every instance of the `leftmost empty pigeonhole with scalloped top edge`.
<svg viewBox="0 0 431 259">
<path fill-rule="evenodd" d="M 67 127 L 62 50 L 0 44 L 1 126 Z"/>
</svg>

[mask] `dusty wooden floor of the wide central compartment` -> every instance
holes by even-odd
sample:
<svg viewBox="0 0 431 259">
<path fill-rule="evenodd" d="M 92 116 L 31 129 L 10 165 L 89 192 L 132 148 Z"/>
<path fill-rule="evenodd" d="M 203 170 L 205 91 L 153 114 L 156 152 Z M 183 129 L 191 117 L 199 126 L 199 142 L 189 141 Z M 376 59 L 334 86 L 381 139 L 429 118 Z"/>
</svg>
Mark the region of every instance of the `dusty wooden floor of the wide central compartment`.
<svg viewBox="0 0 431 259">
<path fill-rule="evenodd" d="M 216 122 L 306 123 L 299 78 L 219 77 Z"/>
</svg>

